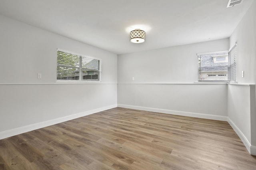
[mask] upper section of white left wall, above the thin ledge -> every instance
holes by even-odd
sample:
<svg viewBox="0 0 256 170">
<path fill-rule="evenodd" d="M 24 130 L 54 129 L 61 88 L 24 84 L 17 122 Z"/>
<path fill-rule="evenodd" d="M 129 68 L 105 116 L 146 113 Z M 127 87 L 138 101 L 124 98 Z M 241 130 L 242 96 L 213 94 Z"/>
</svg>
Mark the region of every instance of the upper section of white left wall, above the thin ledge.
<svg viewBox="0 0 256 170">
<path fill-rule="evenodd" d="M 4 16 L 0 24 L 0 83 L 54 83 L 57 48 L 102 59 L 102 83 L 117 83 L 116 54 Z"/>
</svg>

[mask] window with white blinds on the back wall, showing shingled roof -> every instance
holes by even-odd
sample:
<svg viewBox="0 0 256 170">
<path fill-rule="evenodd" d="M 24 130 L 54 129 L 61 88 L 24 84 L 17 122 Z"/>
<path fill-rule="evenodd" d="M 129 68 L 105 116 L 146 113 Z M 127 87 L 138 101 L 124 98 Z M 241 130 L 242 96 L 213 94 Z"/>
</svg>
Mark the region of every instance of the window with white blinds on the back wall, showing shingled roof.
<svg viewBox="0 0 256 170">
<path fill-rule="evenodd" d="M 198 81 L 228 81 L 228 75 L 228 51 L 198 54 Z"/>
</svg>

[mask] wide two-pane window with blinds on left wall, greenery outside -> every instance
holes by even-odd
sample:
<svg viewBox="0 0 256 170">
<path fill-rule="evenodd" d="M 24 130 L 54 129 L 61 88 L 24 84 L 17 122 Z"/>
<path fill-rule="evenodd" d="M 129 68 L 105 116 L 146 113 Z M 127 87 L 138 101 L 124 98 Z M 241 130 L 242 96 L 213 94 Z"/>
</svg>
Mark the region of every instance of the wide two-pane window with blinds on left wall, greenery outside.
<svg viewBox="0 0 256 170">
<path fill-rule="evenodd" d="M 57 80 L 100 81 L 99 59 L 57 51 Z"/>
</svg>

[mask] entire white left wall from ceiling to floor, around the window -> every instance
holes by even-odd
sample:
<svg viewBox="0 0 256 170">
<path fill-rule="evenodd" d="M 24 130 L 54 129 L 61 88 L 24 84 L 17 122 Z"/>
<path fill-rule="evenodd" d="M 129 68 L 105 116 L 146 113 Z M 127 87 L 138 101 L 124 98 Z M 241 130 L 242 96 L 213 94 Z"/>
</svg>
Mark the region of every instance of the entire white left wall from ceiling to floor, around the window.
<svg viewBox="0 0 256 170">
<path fill-rule="evenodd" d="M 116 107 L 116 54 L 4 16 L 0 25 L 0 138 Z M 55 83 L 57 48 L 102 59 L 102 82 Z"/>
</svg>

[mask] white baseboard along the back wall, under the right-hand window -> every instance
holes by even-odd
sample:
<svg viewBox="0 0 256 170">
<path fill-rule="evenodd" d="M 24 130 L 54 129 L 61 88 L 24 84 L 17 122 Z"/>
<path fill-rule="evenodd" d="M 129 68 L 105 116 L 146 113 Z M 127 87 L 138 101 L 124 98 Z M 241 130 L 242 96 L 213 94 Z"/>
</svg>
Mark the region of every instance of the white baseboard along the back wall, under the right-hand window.
<svg viewBox="0 0 256 170">
<path fill-rule="evenodd" d="M 136 110 L 142 110 L 142 111 L 150 111 L 150 112 L 158 112 L 158 113 L 166 113 L 171 115 L 197 117 L 197 118 L 211 119 L 211 120 L 217 120 L 217 121 L 227 121 L 227 118 L 228 118 L 226 116 L 219 116 L 219 115 L 208 115 L 208 114 L 192 113 L 192 112 L 184 112 L 184 111 L 172 111 L 167 109 L 156 109 L 151 107 L 141 107 L 141 106 L 122 105 L 122 104 L 117 104 L 117 107 L 123 107 L 127 109 L 136 109 Z"/>
</svg>

